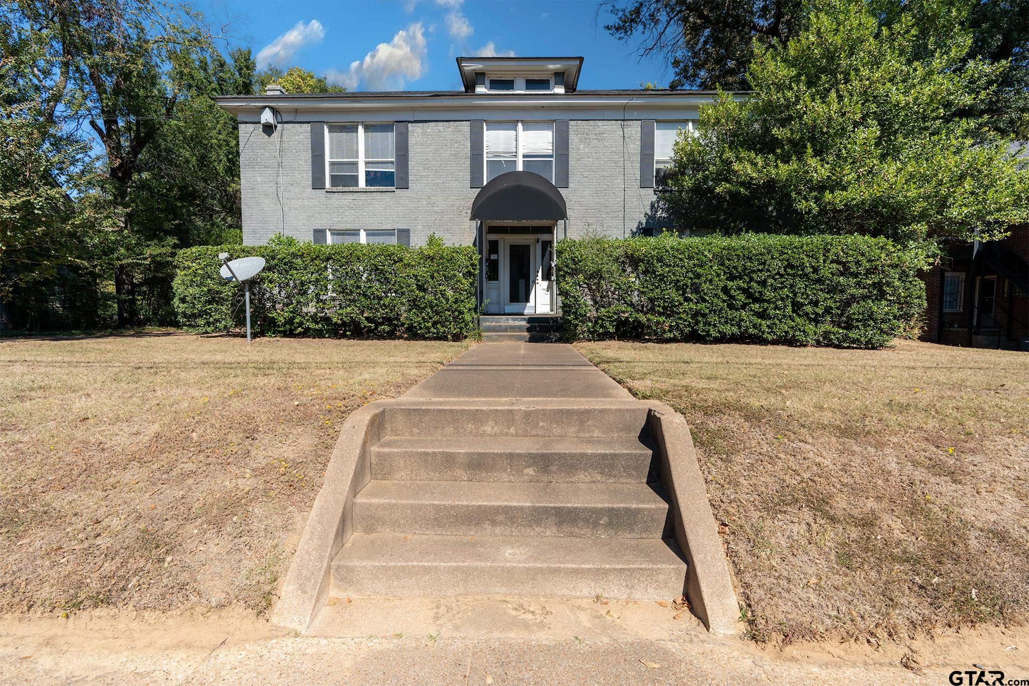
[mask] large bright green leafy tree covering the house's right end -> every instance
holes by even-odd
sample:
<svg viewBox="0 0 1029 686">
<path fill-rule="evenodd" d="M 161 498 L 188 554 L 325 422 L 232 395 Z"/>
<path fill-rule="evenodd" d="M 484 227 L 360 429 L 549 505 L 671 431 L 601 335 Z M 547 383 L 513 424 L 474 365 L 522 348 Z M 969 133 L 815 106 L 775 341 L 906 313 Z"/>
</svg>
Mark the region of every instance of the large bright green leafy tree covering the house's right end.
<svg viewBox="0 0 1029 686">
<path fill-rule="evenodd" d="M 821 0 L 791 40 L 757 50 L 752 97 L 723 95 L 680 136 L 661 213 L 904 243 L 1029 221 L 1027 172 L 982 113 L 1004 65 L 968 59 L 970 32 L 936 7 L 936 22 L 884 27 L 861 0 Z"/>
</svg>

